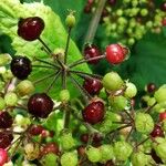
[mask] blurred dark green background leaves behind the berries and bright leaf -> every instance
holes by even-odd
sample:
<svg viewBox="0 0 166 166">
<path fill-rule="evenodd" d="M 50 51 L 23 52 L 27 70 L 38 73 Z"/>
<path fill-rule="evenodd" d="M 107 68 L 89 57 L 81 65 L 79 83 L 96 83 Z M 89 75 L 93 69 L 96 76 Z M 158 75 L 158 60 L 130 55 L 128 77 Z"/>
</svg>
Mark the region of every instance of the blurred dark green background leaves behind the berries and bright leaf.
<svg viewBox="0 0 166 166">
<path fill-rule="evenodd" d="M 24 0 L 24 2 L 33 2 L 34 0 Z M 39 1 L 39 0 L 35 0 Z M 86 0 L 43 0 L 43 2 L 56 12 L 62 23 L 64 23 L 68 9 L 75 10 L 76 27 L 72 32 L 72 39 L 82 50 L 84 38 L 92 19 L 92 14 L 83 12 Z M 159 6 L 162 0 L 156 0 Z M 52 32 L 53 33 L 53 32 Z M 4 34 L 0 34 L 0 52 L 13 53 L 10 46 L 11 40 Z M 102 24 L 98 24 L 94 43 L 98 45 L 103 52 L 107 44 L 113 41 L 105 35 Z M 157 86 L 166 83 L 166 28 L 163 28 L 159 34 L 146 33 L 142 40 L 131 48 L 131 58 L 121 65 L 112 66 L 106 61 L 101 61 L 95 66 L 90 66 L 94 73 L 104 74 L 111 70 L 120 72 L 123 79 L 129 79 L 134 82 L 139 91 L 144 90 L 145 84 L 154 82 Z"/>
</svg>

